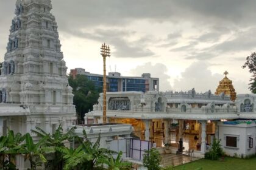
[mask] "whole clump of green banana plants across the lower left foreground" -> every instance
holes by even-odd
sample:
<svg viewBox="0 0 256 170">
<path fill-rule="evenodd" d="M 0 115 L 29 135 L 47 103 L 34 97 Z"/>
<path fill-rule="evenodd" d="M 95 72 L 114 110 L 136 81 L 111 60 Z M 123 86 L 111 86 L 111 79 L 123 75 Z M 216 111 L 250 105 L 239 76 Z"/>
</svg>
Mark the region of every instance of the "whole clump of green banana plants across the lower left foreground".
<svg viewBox="0 0 256 170">
<path fill-rule="evenodd" d="M 122 153 L 116 153 L 108 149 L 100 148 L 100 136 L 93 144 L 84 131 L 84 139 L 73 136 L 74 128 L 63 134 L 62 126 L 59 126 L 53 135 L 47 134 L 40 127 L 32 131 L 38 136 L 38 142 L 34 143 L 30 134 L 14 134 L 9 131 L 7 136 L 0 138 L 0 169 L 16 170 L 16 155 L 29 160 L 29 170 L 35 170 L 38 166 L 54 170 L 124 170 L 130 169 L 130 163 L 121 160 Z M 78 148 L 67 148 L 65 143 L 73 139 L 79 143 Z M 118 154 L 113 158 L 113 154 Z"/>
</svg>

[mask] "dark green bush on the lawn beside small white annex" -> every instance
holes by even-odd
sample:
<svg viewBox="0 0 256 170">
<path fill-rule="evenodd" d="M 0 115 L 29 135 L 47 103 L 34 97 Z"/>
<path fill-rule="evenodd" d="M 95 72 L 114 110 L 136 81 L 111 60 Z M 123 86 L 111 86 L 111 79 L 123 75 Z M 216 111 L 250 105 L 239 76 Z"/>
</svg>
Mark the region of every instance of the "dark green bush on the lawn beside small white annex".
<svg viewBox="0 0 256 170">
<path fill-rule="evenodd" d="M 210 148 L 210 151 L 205 153 L 205 158 L 210 160 L 218 160 L 219 157 L 224 155 L 224 152 L 221 148 L 221 140 L 216 140 L 216 138 L 213 139 L 212 147 Z"/>
</svg>

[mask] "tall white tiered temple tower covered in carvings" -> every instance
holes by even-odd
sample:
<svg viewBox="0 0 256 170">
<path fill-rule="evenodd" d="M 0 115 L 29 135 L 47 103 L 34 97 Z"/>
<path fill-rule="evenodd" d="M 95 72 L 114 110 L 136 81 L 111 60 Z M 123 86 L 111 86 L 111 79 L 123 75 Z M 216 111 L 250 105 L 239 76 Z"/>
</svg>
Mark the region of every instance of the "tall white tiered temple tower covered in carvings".
<svg viewBox="0 0 256 170">
<path fill-rule="evenodd" d="M 51 133 L 74 124 L 51 0 L 18 0 L 0 75 L 0 136 L 7 127 L 26 134 L 35 126 Z M 33 135 L 33 134 L 32 134 Z"/>
</svg>

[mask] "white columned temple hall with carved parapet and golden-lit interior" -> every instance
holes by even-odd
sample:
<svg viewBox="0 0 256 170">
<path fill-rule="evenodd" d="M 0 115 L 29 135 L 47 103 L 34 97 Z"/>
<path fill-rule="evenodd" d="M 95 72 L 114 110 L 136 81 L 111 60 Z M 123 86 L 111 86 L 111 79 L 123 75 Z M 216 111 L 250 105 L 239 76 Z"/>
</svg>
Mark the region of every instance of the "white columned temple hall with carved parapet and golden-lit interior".
<svg viewBox="0 0 256 170">
<path fill-rule="evenodd" d="M 200 152 L 195 151 L 198 157 L 204 156 L 206 145 L 212 143 L 213 137 L 221 139 L 226 154 L 246 157 L 255 154 L 255 104 L 254 94 L 237 95 L 233 102 L 229 95 L 214 95 L 210 90 L 204 94 L 194 89 L 188 92 L 108 92 L 107 117 L 110 123 L 132 124 L 135 134 L 142 140 L 156 140 L 154 135 L 158 132 L 163 132 L 163 143 L 173 142 L 171 132 L 176 134 L 176 143 L 185 134 L 196 135 L 197 143 L 193 139 L 188 145 L 199 147 Z M 86 118 L 102 122 L 102 96 Z M 171 131 L 175 124 L 178 129 Z"/>
</svg>

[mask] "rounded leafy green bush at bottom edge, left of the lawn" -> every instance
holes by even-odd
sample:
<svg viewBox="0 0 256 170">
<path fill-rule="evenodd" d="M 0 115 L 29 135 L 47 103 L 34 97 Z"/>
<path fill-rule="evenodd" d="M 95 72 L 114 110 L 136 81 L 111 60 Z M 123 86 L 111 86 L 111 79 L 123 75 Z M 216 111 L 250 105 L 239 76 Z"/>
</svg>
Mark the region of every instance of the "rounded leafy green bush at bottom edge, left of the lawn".
<svg viewBox="0 0 256 170">
<path fill-rule="evenodd" d="M 146 151 L 143 155 L 143 165 L 148 168 L 148 170 L 160 170 L 161 160 L 161 155 L 155 148 Z"/>
</svg>

